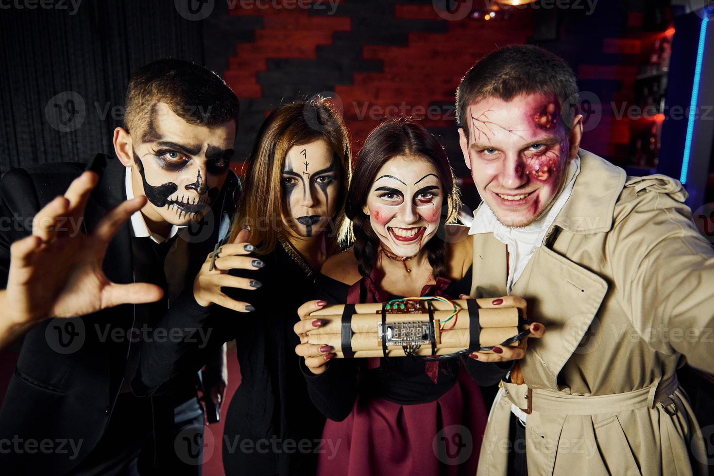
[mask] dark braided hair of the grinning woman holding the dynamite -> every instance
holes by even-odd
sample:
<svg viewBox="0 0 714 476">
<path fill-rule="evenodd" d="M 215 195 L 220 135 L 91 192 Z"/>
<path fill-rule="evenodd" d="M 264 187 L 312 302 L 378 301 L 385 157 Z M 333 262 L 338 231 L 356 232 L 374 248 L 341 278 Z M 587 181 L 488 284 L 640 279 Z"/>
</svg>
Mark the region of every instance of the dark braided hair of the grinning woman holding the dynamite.
<svg viewBox="0 0 714 476">
<path fill-rule="evenodd" d="M 446 275 L 446 246 L 440 236 L 449 221 L 456 220 L 461 200 L 456 179 L 441 144 L 425 128 L 408 118 L 398 118 L 377 126 L 368 136 L 359 152 L 347 193 L 345 213 L 352 221 L 354 253 L 359 272 L 368 276 L 377 261 L 379 238 L 374 233 L 369 217 L 363 212 L 367 196 L 379 169 L 396 156 L 418 156 L 433 163 L 446 196 L 446 211 L 441 212 L 436 236 L 426 243 L 428 260 L 434 278 Z"/>
</svg>

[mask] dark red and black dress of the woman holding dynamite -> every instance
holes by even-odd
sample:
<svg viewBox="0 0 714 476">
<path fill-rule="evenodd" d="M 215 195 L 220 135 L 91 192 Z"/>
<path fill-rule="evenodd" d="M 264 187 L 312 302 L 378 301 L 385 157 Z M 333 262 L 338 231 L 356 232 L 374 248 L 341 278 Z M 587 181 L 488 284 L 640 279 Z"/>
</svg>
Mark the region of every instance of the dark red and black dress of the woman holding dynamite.
<svg viewBox="0 0 714 476">
<path fill-rule="evenodd" d="M 316 285 L 328 303 L 394 299 L 379 280 L 376 271 L 350 287 L 321 275 Z M 438 278 L 421 295 L 458 297 L 470 285 L 471 270 L 456 283 Z M 303 366 L 311 398 L 328 417 L 318 475 L 475 475 L 488 414 L 474 379 L 493 385 L 506 371 L 468 358 L 339 359 L 321 375 Z"/>
</svg>

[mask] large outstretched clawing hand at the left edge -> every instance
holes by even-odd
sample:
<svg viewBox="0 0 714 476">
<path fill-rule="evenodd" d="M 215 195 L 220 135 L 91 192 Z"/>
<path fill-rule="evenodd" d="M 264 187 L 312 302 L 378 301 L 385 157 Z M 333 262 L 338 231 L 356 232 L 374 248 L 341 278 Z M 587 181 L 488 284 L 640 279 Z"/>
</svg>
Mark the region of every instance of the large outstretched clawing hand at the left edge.
<svg viewBox="0 0 714 476">
<path fill-rule="evenodd" d="M 10 323 L 30 325 L 46 318 L 71 318 L 126 303 L 151 303 L 163 291 L 149 283 L 112 283 L 102 270 L 109 242 L 146 197 L 125 201 L 104 216 L 89 235 L 79 232 L 92 189 L 99 181 L 86 171 L 64 196 L 37 213 L 32 234 L 11 245 L 3 314 Z M 76 223 L 75 233 L 63 223 Z M 0 338 L 0 346 L 3 344 Z"/>
</svg>

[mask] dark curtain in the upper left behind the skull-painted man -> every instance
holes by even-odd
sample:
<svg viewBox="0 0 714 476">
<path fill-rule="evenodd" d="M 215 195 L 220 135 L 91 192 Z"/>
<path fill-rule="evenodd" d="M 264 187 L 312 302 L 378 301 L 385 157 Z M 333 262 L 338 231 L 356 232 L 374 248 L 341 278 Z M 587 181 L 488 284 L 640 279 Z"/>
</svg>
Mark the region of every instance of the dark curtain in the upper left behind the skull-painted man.
<svg viewBox="0 0 714 476">
<path fill-rule="evenodd" d="M 132 72 L 169 56 L 203 64 L 201 21 L 173 0 L 42 4 L 0 11 L 0 173 L 113 153 Z"/>
</svg>

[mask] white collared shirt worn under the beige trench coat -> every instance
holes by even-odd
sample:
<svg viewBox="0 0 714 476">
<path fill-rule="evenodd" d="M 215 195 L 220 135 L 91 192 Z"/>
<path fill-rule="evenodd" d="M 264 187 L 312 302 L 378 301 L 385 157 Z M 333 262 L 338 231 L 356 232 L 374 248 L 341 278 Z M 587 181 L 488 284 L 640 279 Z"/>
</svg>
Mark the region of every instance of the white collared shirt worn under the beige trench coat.
<svg viewBox="0 0 714 476">
<path fill-rule="evenodd" d="M 506 293 L 511 294 L 513 285 L 516 284 L 518 278 L 521 277 L 523 270 L 526 269 L 528 261 L 533 257 L 535 250 L 540 248 L 545 239 L 545 234 L 550 230 L 553 221 L 558 217 L 558 213 L 563 209 L 565 203 L 573 193 L 575 186 L 575 178 L 580 173 L 580 157 L 575 156 L 573 161 L 568 164 L 568 178 L 560 191 L 558 197 L 555 198 L 553 206 L 550 207 L 545 216 L 538 218 L 528 226 L 522 228 L 513 228 L 503 225 L 496 215 L 491 210 L 491 207 L 486 205 L 486 202 L 481 203 L 476 213 L 473 216 L 473 223 L 468 231 L 469 235 L 478 235 L 479 233 L 493 233 L 493 236 L 501 243 L 506 245 L 508 250 L 508 280 L 506 281 Z M 511 405 L 511 412 L 518 417 L 523 425 L 526 424 L 526 413 L 516 405 Z"/>
</svg>

